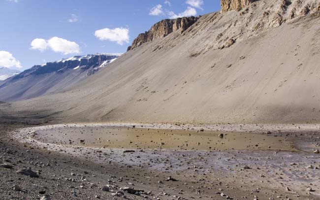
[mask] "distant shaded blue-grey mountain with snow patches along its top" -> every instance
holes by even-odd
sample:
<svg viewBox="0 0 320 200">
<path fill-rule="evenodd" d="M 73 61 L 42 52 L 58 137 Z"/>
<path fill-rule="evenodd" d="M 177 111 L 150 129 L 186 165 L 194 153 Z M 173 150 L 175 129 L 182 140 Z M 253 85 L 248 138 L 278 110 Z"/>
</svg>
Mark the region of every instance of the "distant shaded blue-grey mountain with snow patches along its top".
<svg viewBox="0 0 320 200">
<path fill-rule="evenodd" d="M 93 75 L 121 54 L 74 56 L 36 65 L 0 82 L 0 100 L 24 100 L 63 91 Z"/>
</svg>

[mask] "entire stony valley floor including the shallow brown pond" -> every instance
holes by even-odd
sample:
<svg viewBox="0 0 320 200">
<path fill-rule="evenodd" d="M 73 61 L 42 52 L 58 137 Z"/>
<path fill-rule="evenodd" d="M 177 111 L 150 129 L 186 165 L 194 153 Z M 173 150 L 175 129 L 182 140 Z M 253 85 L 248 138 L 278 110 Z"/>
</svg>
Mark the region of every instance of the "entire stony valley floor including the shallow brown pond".
<svg viewBox="0 0 320 200">
<path fill-rule="evenodd" d="M 319 133 L 308 127 L 6 126 L 3 200 L 319 199 Z"/>
</svg>

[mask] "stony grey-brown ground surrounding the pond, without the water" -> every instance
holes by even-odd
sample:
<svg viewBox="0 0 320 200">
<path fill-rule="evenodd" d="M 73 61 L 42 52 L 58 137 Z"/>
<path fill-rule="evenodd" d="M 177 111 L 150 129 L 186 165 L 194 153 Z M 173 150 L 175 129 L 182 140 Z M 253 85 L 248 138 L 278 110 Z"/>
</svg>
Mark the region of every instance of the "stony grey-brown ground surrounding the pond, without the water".
<svg viewBox="0 0 320 200">
<path fill-rule="evenodd" d="M 141 128 L 139 124 L 112 125 Z M 36 130 L 74 126 L 96 129 L 100 125 L 37 127 L 2 122 L 0 162 L 9 168 L 0 167 L 0 200 L 44 195 L 52 200 L 320 199 L 320 154 L 313 152 L 320 145 L 318 125 L 142 125 L 146 129 L 204 128 L 282 136 L 295 151 L 158 148 L 125 152 L 132 149 L 53 144 L 33 138 Z M 16 172 L 24 167 L 31 167 L 39 177 Z"/>
</svg>

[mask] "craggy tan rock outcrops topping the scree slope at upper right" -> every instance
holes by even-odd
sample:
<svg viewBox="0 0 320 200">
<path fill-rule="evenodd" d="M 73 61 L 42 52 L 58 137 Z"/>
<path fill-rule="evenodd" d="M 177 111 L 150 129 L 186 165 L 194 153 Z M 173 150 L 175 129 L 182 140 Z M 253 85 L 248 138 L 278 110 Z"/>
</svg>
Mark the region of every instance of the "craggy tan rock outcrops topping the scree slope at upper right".
<svg viewBox="0 0 320 200">
<path fill-rule="evenodd" d="M 320 15 L 319 0 L 221 0 L 222 11 L 199 17 L 188 34 L 180 37 L 169 35 L 167 40 L 158 40 L 152 51 L 171 49 L 175 40 L 192 40 L 203 34 L 203 40 L 189 49 L 191 57 L 205 54 L 214 49 L 224 49 L 237 42 L 259 36 L 268 30 L 293 23 L 301 17 Z M 227 12 L 235 9 L 233 12 Z M 210 33 L 210 34 L 209 34 Z M 170 34 L 171 35 L 171 34 Z M 205 35 L 205 36 L 204 36 Z"/>
</svg>

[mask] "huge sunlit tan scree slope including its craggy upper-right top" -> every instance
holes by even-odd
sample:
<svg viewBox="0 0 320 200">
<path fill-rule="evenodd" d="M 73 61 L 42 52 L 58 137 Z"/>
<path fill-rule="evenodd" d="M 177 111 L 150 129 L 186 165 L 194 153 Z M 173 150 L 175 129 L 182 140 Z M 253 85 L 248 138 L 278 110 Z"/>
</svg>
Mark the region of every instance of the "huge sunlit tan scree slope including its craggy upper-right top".
<svg viewBox="0 0 320 200">
<path fill-rule="evenodd" d="M 69 91 L 1 111 L 64 121 L 320 122 L 319 2 L 283 2 L 202 16 Z"/>
</svg>

